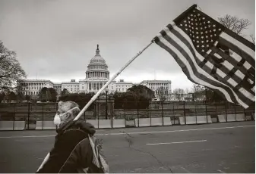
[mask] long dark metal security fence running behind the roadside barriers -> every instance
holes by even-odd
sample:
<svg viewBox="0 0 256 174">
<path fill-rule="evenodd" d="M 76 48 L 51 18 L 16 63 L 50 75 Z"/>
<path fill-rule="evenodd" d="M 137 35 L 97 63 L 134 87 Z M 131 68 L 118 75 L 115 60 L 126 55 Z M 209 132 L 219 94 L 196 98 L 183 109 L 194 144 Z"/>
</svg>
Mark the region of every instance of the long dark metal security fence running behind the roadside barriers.
<svg viewBox="0 0 256 174">
<path fill-rule="evenodd" d="M 147 103 L 146 103 L 147 102 Z M 109 120 L 110 127 L 115 127 L 118 120 L 124 120 L 125 126 L 142 126 L 143 119 L 150 119 L 150 126 L 152 120 L 164 120 L 169 118 L 172 125 L 181 124 L 180 117 L 187 118 L 193 116 L 205 116 L 206 119 L 216 118 L 218 115 L 229 114 L 245 114 L 252 116 L 255 112 L 254 107 L 244 109 L 243 107 L 228 102 L 216 103 L 206 101 L 133 101 L 133 102 L 119 102 L 119 109 L 115 109 L 116 103 L 97 104 L 93 103 L 93 107 L 87 110 L 82 119 L 91 121 L 97 124 L 100 128 L 101 120 Z M 140 106 L 144 106 L 142 109 Z M 57 103 L 16 103 L 16 104 L 0 104 L 0 123 L 2 121 L 25 123 L 25 129 L 37 129 L 36 125 L 40 123 L 43 129 L 43 123 L 53 121 L 55 113 L 58 109 Z M 250 117 L 252 120 L 253 117 Z M 141 120 L 142 119 L 142 120 Z M 99 121 L 100 120 L 100 121 Z M 227 117 L 226 117 L 226 121 Z M 36 123 L 37 122 L 37 123 Z M 140 123 L 141 122 L 141 123 Z M 13 123 L 13 125 L 14 125 Z M 208 123 L 208 121 L 207 121 Z"/>
</svg>

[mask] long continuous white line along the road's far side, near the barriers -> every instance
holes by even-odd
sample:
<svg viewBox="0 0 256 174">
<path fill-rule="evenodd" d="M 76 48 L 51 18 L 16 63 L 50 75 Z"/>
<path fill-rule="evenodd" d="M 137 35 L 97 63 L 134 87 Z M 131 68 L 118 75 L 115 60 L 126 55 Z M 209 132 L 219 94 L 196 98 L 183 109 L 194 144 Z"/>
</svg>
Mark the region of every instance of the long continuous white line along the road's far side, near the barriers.
<svg viewBox="0 0 256 174">
<path fill-rule="evenodd" d="M 168 132 L 188 132 L 188 131 L 204 131 L 204 130 L 215 130 L 215 129 L 234 129 L 234 128 L 245 128 L 245 127 L 255 127 L 255 125 L 248 126 L 232 126 L 232 127 L 220 127 L 220 128 L 202 128 L 202 129 L 182 129 L 182 130 L 171 130 L 171 131 L 154 131 L 154 132 L 120 132 L 120 133 L 109 133 L 109 134 L 96 134 L 96 136 L 103 135 L 132 135 L 132 134 L 152 134 L 152 133 L 168 133 Z M 0 138 L 43 138 L 43 137 L 53 137 L 55 135 L 30 135 L 30 136 L 3 136 Z"/>
</svg>

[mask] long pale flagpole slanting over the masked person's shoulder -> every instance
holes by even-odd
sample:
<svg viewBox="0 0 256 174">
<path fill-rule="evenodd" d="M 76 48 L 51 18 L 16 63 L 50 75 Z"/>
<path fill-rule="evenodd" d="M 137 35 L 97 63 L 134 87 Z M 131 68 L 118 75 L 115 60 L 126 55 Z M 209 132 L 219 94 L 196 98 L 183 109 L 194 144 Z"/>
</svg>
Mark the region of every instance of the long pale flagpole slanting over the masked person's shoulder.
<svg viewBox="0 0 256 174">
<path fill-rule="evenodd" d="M 85 110 L 87 110 L 87 108 L 90 107 L 90 104 L 92 104 L 93 101 L 95 101 L 96 98 L 99 97 L 100 93 L 103 92 L 104 89 L 106 89 L 106 87 L 110 84 L 110 82 L 112 82 L 117 76 L 119 76 L 119 74 L 122 73 L 122 71 L 125 70 L 125 68 L 128 67 L 128 65 L 131 64 L 131 62 L 133 62 L 139 55 L 141 55 L 150 45 L 152 45 L 153 42 L 154 42 L 154 40 L 152 40 L 145 48 L 143 48 L 134 57 L 132 57 L 131 60 L 128 61 L 128 63 L 126 63 L 125 66 L 122 67 L 118 73 L 115 73 L 115 75 L 112 76 L 112 78 L 109 79 L 109 81 L 106 82 L 106 84 L 103 85 L 103 87 L 98 92 L 96 92 L 95 95 L 93 95 L 93 98 L 90 99 L 90 101 L 84 106 L 84 108 L 80 111 L 80 113 L 78 113 L 77 117 L 74 118 L 74 121 L 78 120 L 79 117 L 81 117 L 81 115 L 85 112 Z M 43 163 L 40 165 L 40 167 L 37 169 L 37 171 L 39 171 L 43 167 L 43 164 L 46 163 L 47 160 L 49 160 L 49 153 L 46 155 L 45 159 L 43 160 Z"/>
</svg>

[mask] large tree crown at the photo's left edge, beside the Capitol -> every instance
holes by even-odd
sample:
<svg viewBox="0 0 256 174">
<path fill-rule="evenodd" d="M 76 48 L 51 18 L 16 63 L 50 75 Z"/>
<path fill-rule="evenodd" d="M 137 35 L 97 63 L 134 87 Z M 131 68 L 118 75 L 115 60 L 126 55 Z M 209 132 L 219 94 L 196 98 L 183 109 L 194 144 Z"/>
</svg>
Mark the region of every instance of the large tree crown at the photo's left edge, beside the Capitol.
<svg viewBox="0 0 256 174">
<path fill-rule="evenodd" d="M 16 59 L 16 53 L 5 48 L 3 42 L 0 41 L 0 91 L 14 90 L 17 82 L 26 76 Z"/>
</svg>

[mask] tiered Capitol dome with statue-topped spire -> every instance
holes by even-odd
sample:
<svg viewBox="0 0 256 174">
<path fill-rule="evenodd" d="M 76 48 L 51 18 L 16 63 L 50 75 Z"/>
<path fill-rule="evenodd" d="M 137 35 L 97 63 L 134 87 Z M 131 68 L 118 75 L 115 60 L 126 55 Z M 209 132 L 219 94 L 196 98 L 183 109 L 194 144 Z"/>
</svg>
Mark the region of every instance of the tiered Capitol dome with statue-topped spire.
<svg viewBox="0 0 256 174">
<path fill-rule="evenodd" d="M 99 45 L 97 45 L 96 54 L 90 59 L 87 66 L 86 79 L 109 79 L 109 70 L 106 61 L 100 55 Z"/>
</svg>

